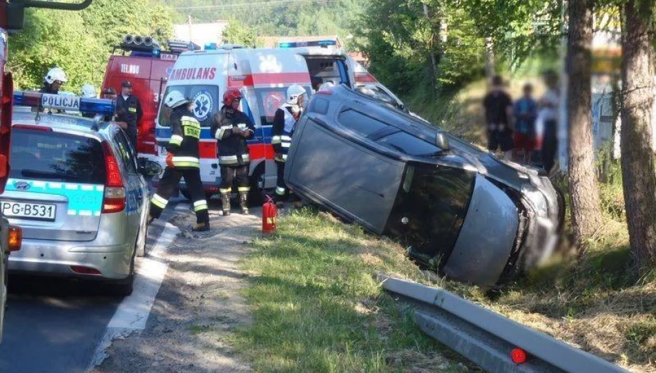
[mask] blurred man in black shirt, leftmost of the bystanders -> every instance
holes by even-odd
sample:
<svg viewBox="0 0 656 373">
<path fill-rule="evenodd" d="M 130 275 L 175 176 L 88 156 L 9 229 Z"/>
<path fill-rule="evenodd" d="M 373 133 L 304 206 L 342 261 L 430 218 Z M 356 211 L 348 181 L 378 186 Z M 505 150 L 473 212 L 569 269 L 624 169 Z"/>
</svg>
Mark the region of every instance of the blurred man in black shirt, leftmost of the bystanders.
<svg viewBox="0 0 656 373">
<path fill-rule="evenodd" d="M 488 126 L 488 150 L 494 152 L 501 148 L 505 158 L 510 159 L 514 148 L 510 128 L 512 99 L 503 90 L 503 79 L 498 75 L 492 79 L 492 90 L 485 95 L 483 106 Z"/>
</svg>

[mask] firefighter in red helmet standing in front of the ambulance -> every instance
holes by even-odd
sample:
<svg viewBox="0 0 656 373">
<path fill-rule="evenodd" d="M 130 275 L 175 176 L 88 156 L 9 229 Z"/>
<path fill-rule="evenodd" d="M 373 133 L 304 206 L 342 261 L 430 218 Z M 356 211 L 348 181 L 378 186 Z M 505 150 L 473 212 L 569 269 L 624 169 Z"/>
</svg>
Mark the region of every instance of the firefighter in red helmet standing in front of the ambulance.
<svg viewBox="0 0 656 373">
<path fill-rule="evenodd" d="M 237 88 L 227 88 L 223 94 L 223 106 L 213 117 L 212 135 L 219 144 L 219 164 L 221 166 L 222 214 L 230 215 L 230 192 L 233 180 L 237 179 L 240 207 L 242 213 L 249 213 L 248 195 L 249 166 L 251 157 L 246 140 L 253 138 L 255 126 L 251 119 L 239 111 L 242 94 Z"/>
</svg>

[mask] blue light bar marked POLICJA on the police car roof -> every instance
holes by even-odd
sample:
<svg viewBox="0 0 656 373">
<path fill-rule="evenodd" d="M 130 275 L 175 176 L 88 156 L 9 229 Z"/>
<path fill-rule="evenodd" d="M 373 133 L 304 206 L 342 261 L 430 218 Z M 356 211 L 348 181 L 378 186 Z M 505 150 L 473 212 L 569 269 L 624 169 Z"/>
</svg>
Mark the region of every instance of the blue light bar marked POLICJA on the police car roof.
<svg viewBox="0 0 656 373">
<path fill-rule="evenodd" d="M 14 106 L 29 106 L 32 108 L 50 108 L 63 111 L 79 111 L 112 115 L 116 104 L 111 99 L 84 98 L 68 95 L 51 95 L 49 93 L 14 91 Z"/>
</svg>

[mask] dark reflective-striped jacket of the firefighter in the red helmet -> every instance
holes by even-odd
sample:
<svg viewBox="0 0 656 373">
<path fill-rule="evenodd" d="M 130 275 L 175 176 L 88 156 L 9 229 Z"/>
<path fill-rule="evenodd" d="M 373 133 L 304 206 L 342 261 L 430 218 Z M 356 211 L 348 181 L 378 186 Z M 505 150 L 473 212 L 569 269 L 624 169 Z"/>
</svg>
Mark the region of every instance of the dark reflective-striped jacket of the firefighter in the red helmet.
<svg viewBox="0 0 656 373">
<path fill-rule="evenodd" d="M 249 134 L 242 137 L 237 134 L 238 129 L 248 130 Z M 219 142 L 219 164 L 242 166 L 251 162 L 246 140 L 252 139 L 255 135 L 255 126 L 246 114 L 241 111 L 228 113 L 226 106 L 223 106 L 214 115 L 211 131 L 212 136 Z"/>
</svg>

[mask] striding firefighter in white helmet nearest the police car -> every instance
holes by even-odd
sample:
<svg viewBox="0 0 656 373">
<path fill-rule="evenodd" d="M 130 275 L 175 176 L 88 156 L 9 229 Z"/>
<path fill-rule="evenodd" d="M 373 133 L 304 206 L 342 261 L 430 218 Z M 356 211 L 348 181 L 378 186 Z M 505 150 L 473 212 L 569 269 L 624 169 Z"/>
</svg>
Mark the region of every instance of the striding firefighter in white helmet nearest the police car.
<svg viewBox="0 0 656 373">
<path fill-rule="evenodd" d="M 177 188 L 180 178 L 184 178 L 186 187 L 193 198 L 193 211 L 196 213 L 196 224 L 193 231 L 209 231 L 209 213 L 207 201 L 200 180 L 200 160 L 198 143 L 200 139 L 200 123 L 191 114 L 191 100 L 182 93 L 173 90 L 166 95 L 164 104 L 171 108 L 171 139 L 166 146 L 166 169 L 157 193 L 151 199 L 151 211 L 148 222 L 160 218 L 168 204 L 168 198 Z"/>
</svg>

